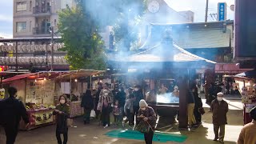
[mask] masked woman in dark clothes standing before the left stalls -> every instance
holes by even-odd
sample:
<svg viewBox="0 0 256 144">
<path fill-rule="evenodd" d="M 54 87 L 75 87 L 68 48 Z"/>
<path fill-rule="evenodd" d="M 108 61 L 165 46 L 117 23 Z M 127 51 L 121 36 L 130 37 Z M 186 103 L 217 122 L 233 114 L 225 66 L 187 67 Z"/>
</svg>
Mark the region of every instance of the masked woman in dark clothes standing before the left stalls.
<svg viewBox="0 0 256 144">
<path fill-rule="evenodd" d="M 54 115 L 56 115 L 56 138 L 58 144 L 66 144 L 68 139 L 68 126 L 67 118 L 70 118 L 70 106 L 66 103 L 67 99 L 65 95 L 61 95 L 58 98 L 59 104 L 54 110 Z M 61 134 L 63 134 L 63 143 Z"/>
</svg>

